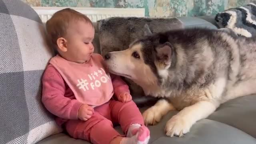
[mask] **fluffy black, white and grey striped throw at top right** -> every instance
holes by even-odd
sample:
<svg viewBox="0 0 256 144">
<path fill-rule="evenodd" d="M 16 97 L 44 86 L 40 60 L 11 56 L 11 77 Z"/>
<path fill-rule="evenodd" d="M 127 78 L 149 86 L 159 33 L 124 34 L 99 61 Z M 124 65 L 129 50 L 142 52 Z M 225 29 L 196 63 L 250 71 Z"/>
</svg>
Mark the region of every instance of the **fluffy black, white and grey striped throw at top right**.
<svg viewBox="0 0 256 144">
<path fill-rule="evenodd" d="M 256 36 L 256 5 L 250 3 L 219 12 L 215 21 L 220 28 L 230 28 L 240 36 Z"/>
</svg>

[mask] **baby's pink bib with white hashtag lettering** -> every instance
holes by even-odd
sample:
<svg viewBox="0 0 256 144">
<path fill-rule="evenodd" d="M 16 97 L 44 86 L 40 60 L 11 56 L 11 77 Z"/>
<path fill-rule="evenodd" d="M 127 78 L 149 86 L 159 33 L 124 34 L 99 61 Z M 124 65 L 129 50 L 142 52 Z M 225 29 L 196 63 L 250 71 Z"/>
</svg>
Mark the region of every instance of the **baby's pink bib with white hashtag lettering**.
<svg viewBox="0 0 256 144">
<path fill-rule="evenodd" d="M 105 72 L 102 63 L 100 54 L 92 54 L 90 61 L 84 64 L 70 62 L 59 55 L 50 60 L 76 99 L 90 106 L 102 105 L 114 94 L 110 74 Z"/>
</svg>

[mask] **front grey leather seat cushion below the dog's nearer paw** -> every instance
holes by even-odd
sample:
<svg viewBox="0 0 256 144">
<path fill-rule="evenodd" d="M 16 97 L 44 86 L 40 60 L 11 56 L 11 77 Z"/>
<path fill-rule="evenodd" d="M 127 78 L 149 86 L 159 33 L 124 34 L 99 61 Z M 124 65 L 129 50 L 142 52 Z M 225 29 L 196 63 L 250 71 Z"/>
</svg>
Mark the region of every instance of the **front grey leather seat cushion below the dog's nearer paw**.
<svg viewBox="0 0 256 144">
<path fill-rule="evenodd" d="M 162 124 L 162 123 L 161 123 Z M 161 125 L 164 128 L 164 124 Z M 153 128 L 150 128 L 152 130 Z M 152 132 L 152 136 L 161 131 Z M 154 139 L 153 139 L 154 138 Z M 153 137 L 151 144 L 255 144 L 256 139 L 244 132 L 220 122 L 204 119 L 196 123 L 190 133 L 182 138 L 164 136 Z"/>
</svg>

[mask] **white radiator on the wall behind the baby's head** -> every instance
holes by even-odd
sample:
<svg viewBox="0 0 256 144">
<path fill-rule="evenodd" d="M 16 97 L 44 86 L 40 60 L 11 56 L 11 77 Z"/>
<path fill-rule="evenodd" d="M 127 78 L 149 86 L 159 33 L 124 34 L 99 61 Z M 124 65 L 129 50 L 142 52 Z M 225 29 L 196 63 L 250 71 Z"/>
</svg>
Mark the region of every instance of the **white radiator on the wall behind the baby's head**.
<svg viewBox="0 0 256 144">
<path fill-rule="evenodd" d="M 62 10 L 67 7 L 32 7 L 40 16 L 42 22 L 46 22 L 52 17 L 52 14 L 55 12 Z M 136 16 L 136 17 L 144 17 L 145 9 L 144 8 L 84 8 L 84 7 L 69 7 L 82 14 L 86 14 L 92 20 L 92 22 L 96 22 L 97 20 L 101 20 L 104 18 L 109 18 L 113 16 Z"/>
</svg>

